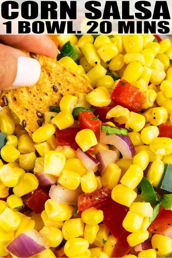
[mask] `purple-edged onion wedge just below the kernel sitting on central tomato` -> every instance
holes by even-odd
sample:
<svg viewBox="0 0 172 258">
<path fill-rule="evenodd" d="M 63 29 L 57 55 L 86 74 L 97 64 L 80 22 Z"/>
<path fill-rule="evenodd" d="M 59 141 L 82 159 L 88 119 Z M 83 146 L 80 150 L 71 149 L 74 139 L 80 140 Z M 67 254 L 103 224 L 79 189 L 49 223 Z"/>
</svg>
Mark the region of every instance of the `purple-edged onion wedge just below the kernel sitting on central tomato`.
<svg viewBox="0 0 172 258">
<path fill-rule="evenodd" d="M 86 167 L 87 170 L 92 171 L 97 165 L 99 165 L 99 161 L 92 157 L 87 152 L 83 152 L 81 149 L 76 150 L 76 155 L 78 159 L 81 160 L 83 165 Z"/>
</svg>

